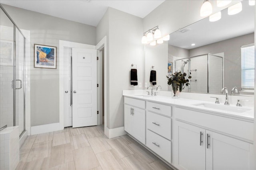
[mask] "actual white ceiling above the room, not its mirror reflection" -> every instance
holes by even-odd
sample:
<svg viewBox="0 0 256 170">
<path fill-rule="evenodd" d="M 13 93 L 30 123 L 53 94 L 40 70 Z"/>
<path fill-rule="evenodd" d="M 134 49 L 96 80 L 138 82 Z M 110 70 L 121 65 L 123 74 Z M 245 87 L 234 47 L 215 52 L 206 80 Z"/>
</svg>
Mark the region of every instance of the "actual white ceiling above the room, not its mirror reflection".
<svg viewBox="0 0 256 170">
<path fill-rule="evenodd" d="M 0 3 L 97 26 L 108 7 L 144 18 L 164 0 L 0 0 Z"/>
</svg>

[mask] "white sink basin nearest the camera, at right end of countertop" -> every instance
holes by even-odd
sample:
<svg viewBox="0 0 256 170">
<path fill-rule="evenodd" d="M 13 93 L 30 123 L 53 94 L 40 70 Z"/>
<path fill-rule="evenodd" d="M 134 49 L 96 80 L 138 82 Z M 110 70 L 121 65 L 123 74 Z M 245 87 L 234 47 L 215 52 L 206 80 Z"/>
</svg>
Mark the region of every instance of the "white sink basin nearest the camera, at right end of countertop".
<svg viewBox="0 0 256 170">
<path fill-rule="evenodd" d="M 223 105 L 223 104 L 210 104 L 210 103 L 194 104 L 194 106 L 207 107 L 207 108 L 218 109 L 218 110 L 222 110 L 222 111 L 232 111 L 232 112 L 236 112 L 236 113 L 242 113 L 242 112 L 250 110 L 250 109 L 244 108 L 244 107 L 229 106 L 229 105 Z"/>
</svg>

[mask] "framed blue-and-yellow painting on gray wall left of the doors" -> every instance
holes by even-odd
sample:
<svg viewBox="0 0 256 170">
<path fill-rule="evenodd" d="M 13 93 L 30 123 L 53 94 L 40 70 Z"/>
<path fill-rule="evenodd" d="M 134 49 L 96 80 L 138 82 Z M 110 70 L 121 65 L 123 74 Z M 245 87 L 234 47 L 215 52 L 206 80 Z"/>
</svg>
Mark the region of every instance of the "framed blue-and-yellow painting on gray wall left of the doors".
<svg viewBox="0 0 256 170">
<path fill-rule="evenodd" d="M 56 69 L 56 47 L 34 44 L 34 67 Z"/>
</svg>

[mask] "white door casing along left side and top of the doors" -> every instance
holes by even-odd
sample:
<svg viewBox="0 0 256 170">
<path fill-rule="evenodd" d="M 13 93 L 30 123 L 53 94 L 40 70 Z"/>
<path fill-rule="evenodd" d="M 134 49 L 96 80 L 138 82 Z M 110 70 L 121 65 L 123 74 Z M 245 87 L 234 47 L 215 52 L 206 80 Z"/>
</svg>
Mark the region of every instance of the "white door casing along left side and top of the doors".
<svg viewBox="0 0 256 170">
<path fill-rule="evenodd" d="M 96 49 L 95 45 L 88 45 L 82 43 L 75 43 L 70 41 L 59 40 L 59 55 L 64 53 L 64 47 L 66 48 L 82 48 L 82 49 Z M 59 121 L 60 130 L 64 129 L 64 59 L 58 57 L 59 61 Z"/>
</svg>

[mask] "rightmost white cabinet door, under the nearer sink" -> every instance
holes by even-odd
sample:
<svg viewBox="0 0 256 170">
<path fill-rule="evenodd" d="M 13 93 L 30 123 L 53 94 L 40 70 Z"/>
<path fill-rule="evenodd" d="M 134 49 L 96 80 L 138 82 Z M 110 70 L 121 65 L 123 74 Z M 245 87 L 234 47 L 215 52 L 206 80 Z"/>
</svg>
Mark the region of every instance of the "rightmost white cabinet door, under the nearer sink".
<svg viewBox="0 0 256 170">
<path fill-rule="evenodd" d="M 206 170 L 253 169 L 250 165 L 252 144 L 212 131 L 206 130 L 206 134 L 210 135 L 206 147 Z"/>
</svg>

